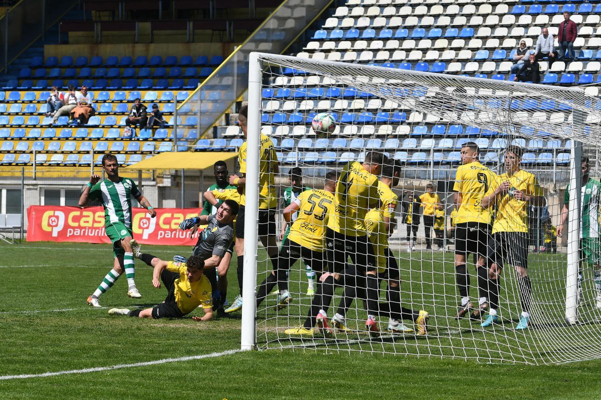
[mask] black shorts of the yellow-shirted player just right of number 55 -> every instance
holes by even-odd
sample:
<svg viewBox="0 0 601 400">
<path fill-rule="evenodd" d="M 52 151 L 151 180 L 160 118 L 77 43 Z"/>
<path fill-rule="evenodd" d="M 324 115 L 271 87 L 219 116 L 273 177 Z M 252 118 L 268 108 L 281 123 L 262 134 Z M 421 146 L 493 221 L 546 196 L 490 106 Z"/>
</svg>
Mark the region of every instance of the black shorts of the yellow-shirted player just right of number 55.
<svg viewBox="0 0 601 400">
<path fill-rule="evenodd" d="M 347 236 L 331 228 L 326 228 L 326 255 L 329 272 L 341 273 L 346 270 L 349 257 L 360 272 L 377 269 L 373 245 L 367 234 Z"/>
</svg>

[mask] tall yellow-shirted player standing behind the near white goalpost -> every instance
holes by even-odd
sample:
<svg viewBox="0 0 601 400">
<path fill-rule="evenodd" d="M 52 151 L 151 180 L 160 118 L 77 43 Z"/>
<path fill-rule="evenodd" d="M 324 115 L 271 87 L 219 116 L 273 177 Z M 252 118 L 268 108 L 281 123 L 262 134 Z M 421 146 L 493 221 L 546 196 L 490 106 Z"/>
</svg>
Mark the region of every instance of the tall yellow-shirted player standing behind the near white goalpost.
<svg viewBox="0 0 601 400">
<path fill-rule="evenodd" d="M 244 137 L 248 135 L 248 106 L 242 106 L 238 113 L 238 125 L 242 129 Z M 268 136 L 261 134 L 259 150 L 259 213 L 258 213 L 258 236 L 264 248 L 267 249 L 267 255 L 271 258 L 272 266 L 276 269 L 276 260 L 278 258 L 277 228 L 275 225 L 275 211 L 278 206 L 278 200 L 275 192 L 275 175 L 279 173 L 278 155 L 273 147 L 273 142 Z M 238 164 L 240 170 L 237 175 L 230 176 L 230 185 L 242 187 L 246 185 L 246 146 L 244 142 L 240 146 L 238 153 Z M 246 192 L 245 192 L 246 193 Z M 236 296 L 232 305 L 225 312 L 234 312 L 242 308 L 242 276 L 244 269 L 244 209 L 245 204 L 240 204 L 240 211 L 236 223 L 236 254 L 237 254 L 237 275 L 240 295 Z"/>
</svg>

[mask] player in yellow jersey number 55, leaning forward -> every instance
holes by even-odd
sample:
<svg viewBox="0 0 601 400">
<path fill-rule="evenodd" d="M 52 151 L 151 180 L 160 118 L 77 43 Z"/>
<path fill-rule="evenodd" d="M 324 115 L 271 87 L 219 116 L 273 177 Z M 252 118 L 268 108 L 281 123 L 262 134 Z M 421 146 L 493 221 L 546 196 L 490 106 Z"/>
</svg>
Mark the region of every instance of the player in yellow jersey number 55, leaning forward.
<svg viewBox="0 0 601 400">
<path fill-rule="evenodd" d="M 336 172 L 328 172 L 325 178 L 323 190 L 306 190 L 284 209 L 284 219 L 287 222 L 291 222 L 294 213 L 297 217 L 290 227 L 290 233 L 282 243 L 277 267 L 258 286 L 257 307 L 276 284 L 279 288 L 278 308 L 290 303 L 292 297 L 288 291 L 286 273 L 299 258 L 311 266 L 318 276 L 325 272 L 325 228 L 334 204 L 334 191 L 338 176 Z M 314 325 L 307 328 L 295 328 L 287 333 L 311 334 L 313 327 Z"/>
</svg>

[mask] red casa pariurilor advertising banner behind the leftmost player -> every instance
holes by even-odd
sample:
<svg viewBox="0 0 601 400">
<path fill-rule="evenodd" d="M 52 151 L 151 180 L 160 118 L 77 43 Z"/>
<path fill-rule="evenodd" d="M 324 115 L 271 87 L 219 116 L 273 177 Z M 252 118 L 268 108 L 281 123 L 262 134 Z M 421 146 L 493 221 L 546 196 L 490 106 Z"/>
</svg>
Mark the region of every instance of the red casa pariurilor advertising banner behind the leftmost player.
<svg viewBox="0 0 601 400">
<path fill-rule="evenodd" d="M 180 230 L 186 218 L 197 216 L 200 208 L 156 208 L 150 218 L 144 208 L 132 208 L 133 237 L 147 245 L 194 246 L 198 233 Z M 102 207 L 31 206 L 27 209 L 28 242 L 111 243 L 105 234 L 105 212 Z"/>
</svg>

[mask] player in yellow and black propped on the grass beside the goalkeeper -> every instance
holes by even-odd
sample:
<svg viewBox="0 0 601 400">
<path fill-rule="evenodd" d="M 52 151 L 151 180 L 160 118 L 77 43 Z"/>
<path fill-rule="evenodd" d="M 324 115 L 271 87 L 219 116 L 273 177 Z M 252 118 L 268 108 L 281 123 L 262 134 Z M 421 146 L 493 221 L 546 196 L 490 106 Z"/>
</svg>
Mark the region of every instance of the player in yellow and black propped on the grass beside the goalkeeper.
<svg viewBox="0 0 601 400">
<path fill-rule="evenodd" d="M 204 260 L 192 255 L 186 263 L 163 261 L 150 254 L 140 254 L 140 260 L 154 267 L 152 284 L 160 288 L 163 282 L 167 289 L 165 301 L 153 308 L 134 309 L 111 308 L 111 315 L 129 315 L 139 318 L 182 318 L 198 308 L 203 307 L 203 317 L 192 317 L 195 321 L 208 321 L 213 318 L 213 301 L 211 284 L 203 274 Z M 159 281 L 160 279 L 160 281 Z"/>
</svg>

